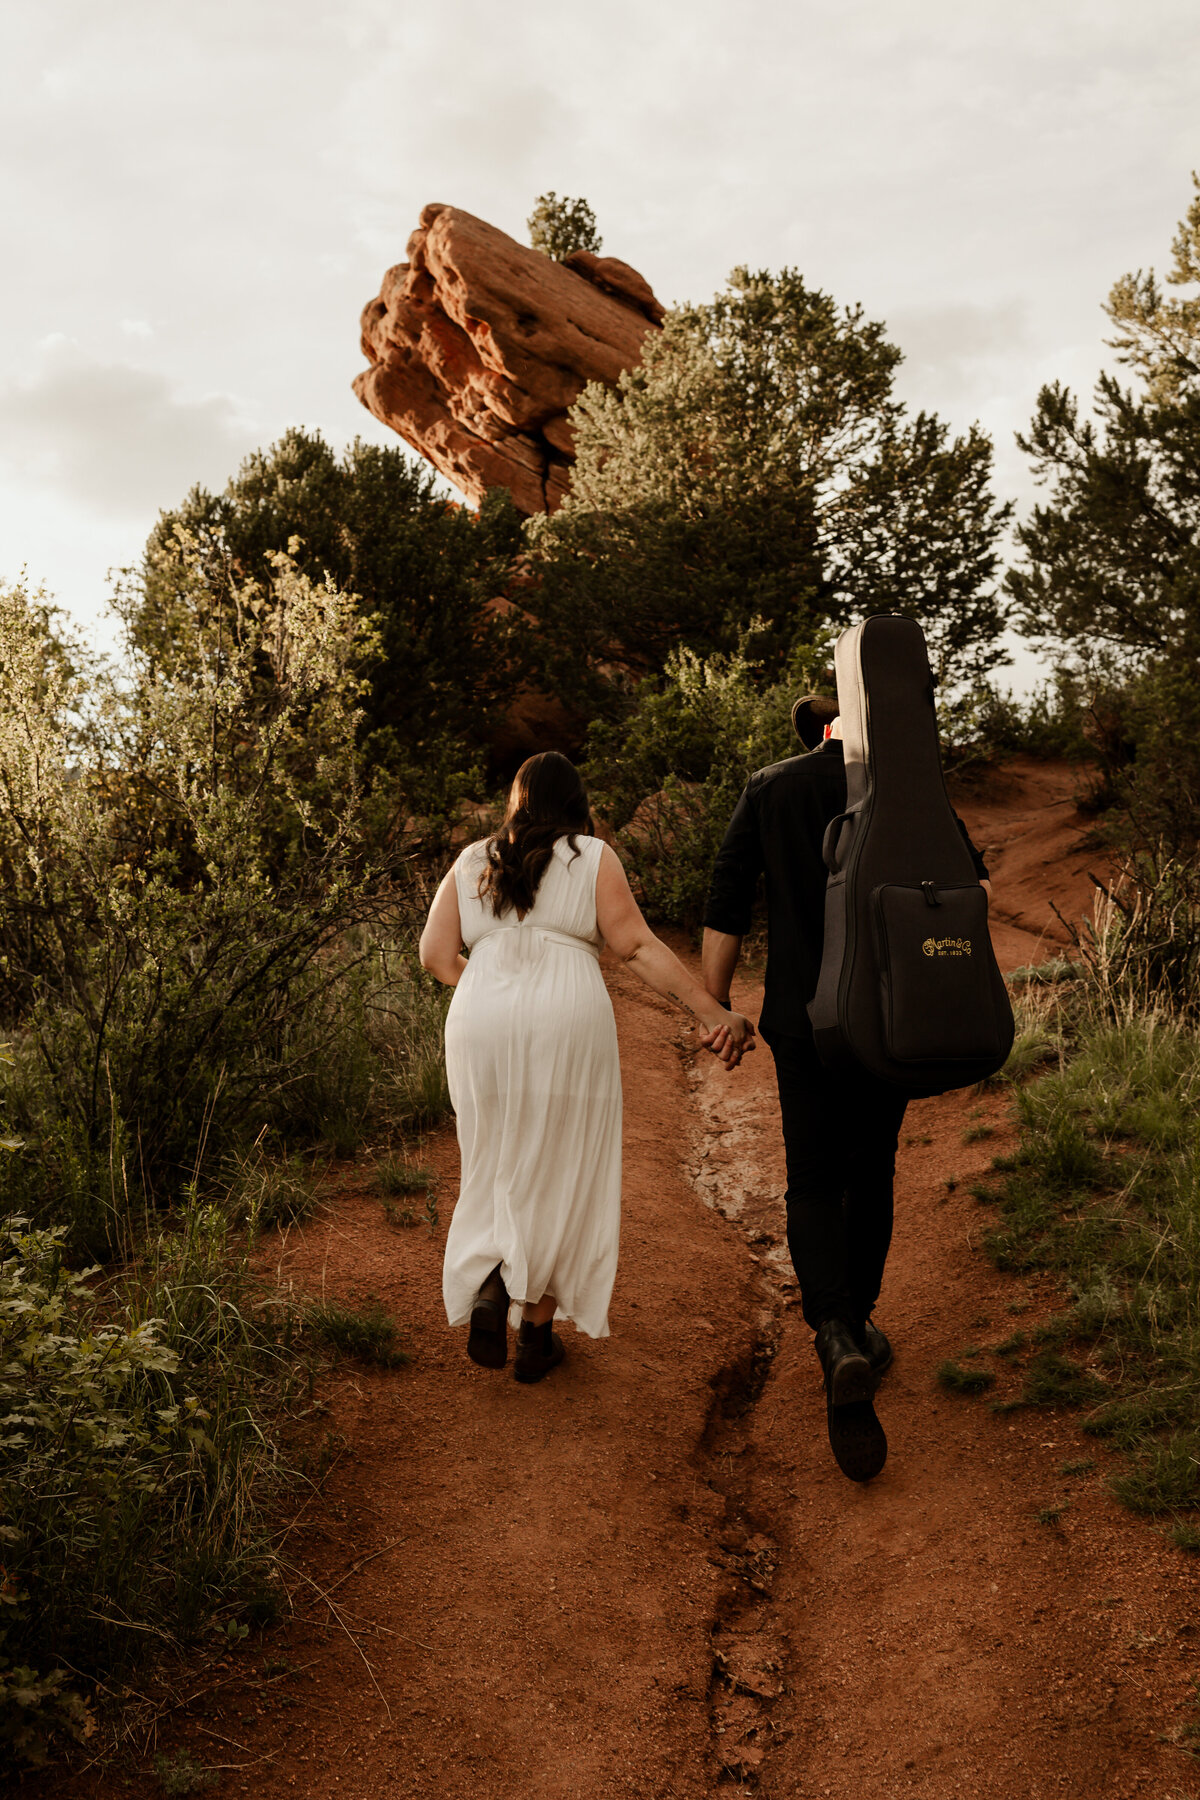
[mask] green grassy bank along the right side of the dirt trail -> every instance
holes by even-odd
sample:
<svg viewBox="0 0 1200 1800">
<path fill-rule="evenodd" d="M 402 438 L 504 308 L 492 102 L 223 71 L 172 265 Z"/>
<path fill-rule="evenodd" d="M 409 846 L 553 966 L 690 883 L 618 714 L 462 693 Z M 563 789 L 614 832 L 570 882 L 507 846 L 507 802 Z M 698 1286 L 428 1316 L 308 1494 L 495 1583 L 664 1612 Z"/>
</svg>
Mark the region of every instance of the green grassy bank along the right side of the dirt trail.
<svg viewBox="0 0 1200 1800">
<path fill-rule="evenodd" d="M 1069 1406 L 1123 1453 L 1124 1505 L 1200 1508 L 1200 882 L 1144 859 L 1097 898 L 1079 963 L 1025 983 L 1018 1148 L 999 1159 L 986 1247 L 1060 1276 L 1067 1309 L 1020 1345 L 1016 1404 Z M 1065 979 L 1061 979 L 1065 976 Z M 1018 1044 L 1022 1033 L 1018 1031 Z M 1024 1357 L 1024 1364 L 1020 1359 Z M 1004 1402 L 1011 1404 L 1011 1402 Z"/>
</svg>

